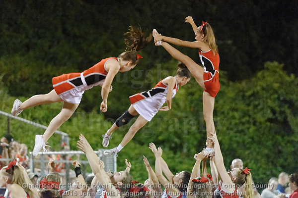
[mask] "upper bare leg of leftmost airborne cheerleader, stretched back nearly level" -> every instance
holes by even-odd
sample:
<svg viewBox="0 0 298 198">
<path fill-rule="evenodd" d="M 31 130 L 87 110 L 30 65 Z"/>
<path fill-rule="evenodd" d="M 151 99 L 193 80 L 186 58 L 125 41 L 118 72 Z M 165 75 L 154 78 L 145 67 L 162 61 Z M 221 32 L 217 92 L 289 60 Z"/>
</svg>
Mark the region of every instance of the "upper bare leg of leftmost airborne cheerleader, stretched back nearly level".
<svg viewBox="0 0 298 198">
<path fill-rule="evenodd" d="M 30 99 L 27 99 L 26 101 L 24 101 L 19 106 L 19 109 L 23 110 L 25 108 L 37 106 L 40 104 L 49 104 L 49 103 L 61 102 L 61 101 L 63 100 L 57 95 L 55 90 L 52 90 L 49 94 L 32 96 Z"/>
</svg>

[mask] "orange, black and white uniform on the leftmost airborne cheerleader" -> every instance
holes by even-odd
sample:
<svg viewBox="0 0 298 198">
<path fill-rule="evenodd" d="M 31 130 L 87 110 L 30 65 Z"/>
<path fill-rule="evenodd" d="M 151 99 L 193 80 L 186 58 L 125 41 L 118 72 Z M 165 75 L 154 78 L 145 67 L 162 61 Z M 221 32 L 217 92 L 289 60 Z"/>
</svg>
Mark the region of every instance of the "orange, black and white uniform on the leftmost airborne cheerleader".
<svg viewBox="0 0 298 198">
<path fill-rule="evenodd" d="M 80 103 L 85 90 L 102 84 L 108 74 L 106 63 L 118 58 L 102 59 L 100 62 L 81 73 L 69 73 L 52 79 L 53 87 L 61 99 L 70 103 Z"/>
</svg>

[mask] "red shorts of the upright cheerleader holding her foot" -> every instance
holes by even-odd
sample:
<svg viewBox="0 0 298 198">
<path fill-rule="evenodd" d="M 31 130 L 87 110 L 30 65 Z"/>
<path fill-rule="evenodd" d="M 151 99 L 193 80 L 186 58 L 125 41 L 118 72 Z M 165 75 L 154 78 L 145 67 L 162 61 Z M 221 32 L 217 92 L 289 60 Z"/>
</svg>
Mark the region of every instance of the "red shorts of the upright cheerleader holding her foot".
<svg viewBox="0 0 298 198">
<path fill-rule="evenodd" d="M 221 87 L 219 72 L 216 71 L 214 76 L 210 72 L 204 72 L 203 79 L 206 87 L 206 90 L 204 91 L 208 92 L 213 98 L 215 98 Z"/>
</svg>

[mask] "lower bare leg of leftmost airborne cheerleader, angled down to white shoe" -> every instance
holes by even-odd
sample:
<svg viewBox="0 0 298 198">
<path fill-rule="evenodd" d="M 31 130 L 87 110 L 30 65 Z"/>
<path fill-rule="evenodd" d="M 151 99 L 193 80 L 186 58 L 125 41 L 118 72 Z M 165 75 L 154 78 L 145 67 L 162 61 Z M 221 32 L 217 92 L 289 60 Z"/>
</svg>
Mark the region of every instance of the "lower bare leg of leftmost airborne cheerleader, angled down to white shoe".
<svg viewBox="0 0 298 198">
<path fill-rule="evenodd" d="M 72 104 L 64 101 L 61 112 L 52 119 L 47 130 L 42 136 L 44 142 L 47 142 L 55 131 L 66 122 L 73 114 L 79 104 Z"/>
</svg>

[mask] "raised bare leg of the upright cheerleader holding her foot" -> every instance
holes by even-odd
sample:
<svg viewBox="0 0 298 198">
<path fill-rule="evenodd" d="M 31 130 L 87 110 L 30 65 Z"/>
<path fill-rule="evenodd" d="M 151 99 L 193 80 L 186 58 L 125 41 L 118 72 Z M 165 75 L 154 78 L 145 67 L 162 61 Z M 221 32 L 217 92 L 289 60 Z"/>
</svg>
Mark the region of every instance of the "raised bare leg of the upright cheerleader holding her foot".
<svg viewBox="0 0 298 198">
<path fill-rule="evenodd" d="M 178 49 L 175 49 L 168 43 L 162 42 L 161 46 L 171 54 L 173 58 L 176 60 L 184 63 L 187 68 L 189 69 L 190 73 L 193 75 L 193 77 L 196 79 L 197 83 L 205 90 L 205 85 L 204 85 L 204 79 L 203 79 L 203 74 L 204 74 L 204 69 L 198 65 L 193 59 L 188 57 L 187 55 L 181 53 Z"/>
</svg>

